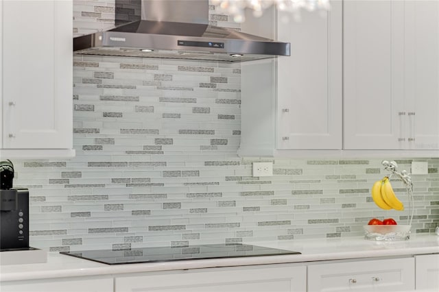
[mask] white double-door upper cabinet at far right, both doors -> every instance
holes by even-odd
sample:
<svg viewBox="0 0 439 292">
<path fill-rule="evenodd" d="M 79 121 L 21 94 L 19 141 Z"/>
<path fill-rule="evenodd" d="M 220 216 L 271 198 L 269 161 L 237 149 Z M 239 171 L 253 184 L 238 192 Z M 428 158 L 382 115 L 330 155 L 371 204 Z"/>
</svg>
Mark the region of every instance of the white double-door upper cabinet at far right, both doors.
<svg viewBox="0 0 439 292">
<path fill-rule="evenodd" d="M 439 149 L 439 1 L 344 1 L 344 149 Z"/>
</svg>

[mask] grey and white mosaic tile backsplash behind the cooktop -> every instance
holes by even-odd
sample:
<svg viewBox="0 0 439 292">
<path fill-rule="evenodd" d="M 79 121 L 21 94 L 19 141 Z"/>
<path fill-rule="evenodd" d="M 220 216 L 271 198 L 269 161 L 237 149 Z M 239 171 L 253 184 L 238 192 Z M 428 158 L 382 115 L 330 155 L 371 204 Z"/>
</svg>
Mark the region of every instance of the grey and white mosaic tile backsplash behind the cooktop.
<svg viewBox="0 0 439 292">
<path fill-rule="evenodd" d="M 75 1 L 75 34 L 114 3 Z M 236 27 L 212 7 L 216 25 Z M 30 243 L 50 251 L 359 236 L 381 210 L 379 159 L 239 158 L 239 64 L 75 56 L 71 160 L 14 161 L 30 191 Z M 388 159 L 392 159 L 391 157 Z M 252 177 L 252 162 L 274 175 Z M 412 159 L 396 160 L 410 171 Z M 418 161 L 418 160 L 417 160 Z M 413 232 L 439 225 L 439 158 L 414 175 Z M 408 205 L 405 188 L 394 189 Z"/>
</svg>

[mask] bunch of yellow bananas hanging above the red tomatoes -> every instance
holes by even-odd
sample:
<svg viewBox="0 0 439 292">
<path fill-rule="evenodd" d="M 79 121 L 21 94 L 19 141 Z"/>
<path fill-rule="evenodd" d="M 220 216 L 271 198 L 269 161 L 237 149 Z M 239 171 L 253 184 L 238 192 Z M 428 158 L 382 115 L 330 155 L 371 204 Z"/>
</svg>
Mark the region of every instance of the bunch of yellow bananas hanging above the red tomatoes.
<svg viewBox="0 0 439 292">
<path fill-rule="evenodd" d="M 372 186 L 372 199 L 379 208 L 384 210 L 404 210 L 403 203 L 396 197 L 388 176 L 378 180 Z"/>
</svg>

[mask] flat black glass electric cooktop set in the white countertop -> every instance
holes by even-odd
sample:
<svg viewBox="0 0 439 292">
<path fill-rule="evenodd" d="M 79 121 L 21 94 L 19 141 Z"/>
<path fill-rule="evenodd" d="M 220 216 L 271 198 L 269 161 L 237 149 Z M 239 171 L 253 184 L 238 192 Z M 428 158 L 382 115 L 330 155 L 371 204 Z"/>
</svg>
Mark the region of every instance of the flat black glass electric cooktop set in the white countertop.
<svg viewBox="0 0 439 292">
<path fill-rule="evenodd" d="M 108 265 L 131 263 L 161 263 L 174 260 L 199 260 L 208 258 L 238 258 L 248 256 L 275 256 L 300 254 L 289 250 L 246 244 L 207 244 L 189 247 L 142 247 L 131 250 L 84 250 L 60 252 L 68 256 L 93 260 Z"/>
</svg>

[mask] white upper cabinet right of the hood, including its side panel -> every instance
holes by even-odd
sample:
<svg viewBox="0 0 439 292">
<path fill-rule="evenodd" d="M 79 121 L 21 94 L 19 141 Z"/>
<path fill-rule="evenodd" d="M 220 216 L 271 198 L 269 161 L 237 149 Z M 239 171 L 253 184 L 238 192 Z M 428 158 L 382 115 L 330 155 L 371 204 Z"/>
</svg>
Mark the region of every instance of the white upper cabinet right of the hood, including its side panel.
<svg viewBox="0 0 439 292">
<path fill-rule="evenodd" d="M 243 23 L 244 32 L 292 47 L 289 57 L 241 64 L 239 154 L 341 149 L 342 2 L 331 5 L 324 15 L 302 10 L 299 22 L 287 12 L 272 11 Z"/>
</svg>

